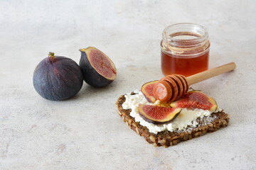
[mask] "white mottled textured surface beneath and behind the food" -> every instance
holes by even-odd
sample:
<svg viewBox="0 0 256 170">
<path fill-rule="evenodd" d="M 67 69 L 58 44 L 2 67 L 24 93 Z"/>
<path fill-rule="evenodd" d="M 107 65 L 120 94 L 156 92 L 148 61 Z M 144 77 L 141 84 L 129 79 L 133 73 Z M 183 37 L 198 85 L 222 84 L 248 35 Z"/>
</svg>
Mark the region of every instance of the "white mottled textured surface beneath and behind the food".
<svg viewBox="0 0 256 170">
<path fill-rule="evenodd" d="M 0 169 L 256 169 L 256 1 L 0 1 Z M 119 95 L 159 79 L 161 31 L 208 28 L 210 68 L 235 72 L 193 86 L 230 113 L 223 128 L 175 147 L 152 147 L 129 130 Z M 117 67 L 105 89 L 87 84 L 68 101 L 33 89 L 49 51 L 80 60 L 95 46 Z"/>
</svg>

